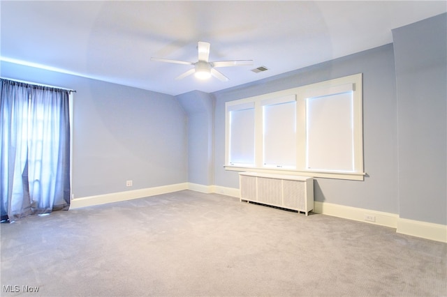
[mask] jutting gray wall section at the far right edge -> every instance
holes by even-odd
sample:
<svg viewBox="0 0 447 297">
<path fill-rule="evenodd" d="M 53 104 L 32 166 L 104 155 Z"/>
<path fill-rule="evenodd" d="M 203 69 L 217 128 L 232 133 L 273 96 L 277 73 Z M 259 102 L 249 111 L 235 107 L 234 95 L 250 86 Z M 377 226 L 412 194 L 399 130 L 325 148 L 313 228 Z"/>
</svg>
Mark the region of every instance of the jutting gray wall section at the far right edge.
<svg viewBox="0 0 447 297">
<path fill-rule="evenodd" d="M 400 217 L 447 224 L 447 14 L 393 30 Z"/>
</svg>

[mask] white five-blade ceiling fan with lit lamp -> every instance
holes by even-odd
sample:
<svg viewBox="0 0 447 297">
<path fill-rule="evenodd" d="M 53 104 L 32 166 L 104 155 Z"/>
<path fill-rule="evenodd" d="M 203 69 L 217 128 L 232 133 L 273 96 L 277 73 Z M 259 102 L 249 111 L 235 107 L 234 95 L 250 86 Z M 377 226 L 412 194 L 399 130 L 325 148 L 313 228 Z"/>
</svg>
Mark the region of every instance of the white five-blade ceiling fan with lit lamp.
<svg viewBox="0 0 447 297">
<path fill-rule="evenodd" d="M 182 73 L 175 79 L 182 79 L 187 77 L 188 75 L 194 74 L 199 79 L 207 79 L 209 77 L 214 76 L 220 79 L 222 82 L 228 81 L 228 77 L 220 73 L 214 68 L 217 67 L 228 67 L 228 66 L 249 66 L 253 65 L 253 60 L 235 60 L 235 61 L 208 61 L 210 56 L 210 43 L 205 43 L 203 41 L 198 42 L 198 61 L 196 62 L 186 62 L 186 61 L 178 61 L 178 60 L 170 60 L 170 59 L 161 59 L 161 58 L 151 58 L 151 61 L 159 61 L 159 62 L 167 62 L 167 63 L 177 63 L 184 65 L 193 65 L 194 68 L 186 71 L 186 73 Z"/>
</svg>

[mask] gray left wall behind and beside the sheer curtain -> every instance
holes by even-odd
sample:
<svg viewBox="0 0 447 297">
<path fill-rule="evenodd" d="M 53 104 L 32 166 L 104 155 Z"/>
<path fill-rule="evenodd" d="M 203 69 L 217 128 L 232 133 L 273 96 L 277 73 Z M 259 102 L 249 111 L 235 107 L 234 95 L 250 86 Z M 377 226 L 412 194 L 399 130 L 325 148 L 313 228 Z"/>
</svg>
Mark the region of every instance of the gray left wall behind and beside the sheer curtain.
<svg viewBox="0 0 447 297">
<path fill-rule="evenodd" d="M 173 97 L 94 79 L 1 63 L 1 77 L 75 89 L 75 197 L 187 181 L 186 113 Z M 133 180 L 133 187 L 126 187 Z"/>
</svg>

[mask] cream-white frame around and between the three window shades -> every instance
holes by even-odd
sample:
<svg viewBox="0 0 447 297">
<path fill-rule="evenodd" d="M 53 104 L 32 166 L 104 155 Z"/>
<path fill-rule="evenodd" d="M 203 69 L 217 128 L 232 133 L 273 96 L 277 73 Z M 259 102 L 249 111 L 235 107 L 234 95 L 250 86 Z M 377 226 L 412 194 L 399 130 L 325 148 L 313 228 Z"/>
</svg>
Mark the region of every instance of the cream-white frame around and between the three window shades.
<svg viewBox="0 0 447 297">
<path fill-rule="evenodd" d="M 335 93 L 342 93 L 346 89 L 351 89 L 353 105 L 353 172 L 344 172 L 325 169 L 307 169 L 307 99 L 318 96 L 330 96 Z M 263 103 L 275 100 L 275 98 L 287 98 L 295 96 L 296 100 L 296 167 L 272 168 L 263 166 Z M 229 111 L 237 109 L 237 105 L 244 106 L 253 104 L 255 108 L 255 152 L 254 166 L 244 167 L 230 165 L 229 141 L 230 123 Z M 330 79 L 325 82 L 318 82 L 306 86 L 299 86 L 293 89 L 266 93 L 260 96 L 243 98 L 240 100 L 228 101 L 225 103 L 226 113 L 226 139 L 225 139 L 225 165 L 224 169 L 236 172 L 266 172 L 272 174 L 289 174 L 298 176 L 312 176 L 321 178 L 338 178 L 354 181 L 363 181 L 365 177 L 363 164 L 363 126 L 362 126 L 362 73 Z"/>
</svg>

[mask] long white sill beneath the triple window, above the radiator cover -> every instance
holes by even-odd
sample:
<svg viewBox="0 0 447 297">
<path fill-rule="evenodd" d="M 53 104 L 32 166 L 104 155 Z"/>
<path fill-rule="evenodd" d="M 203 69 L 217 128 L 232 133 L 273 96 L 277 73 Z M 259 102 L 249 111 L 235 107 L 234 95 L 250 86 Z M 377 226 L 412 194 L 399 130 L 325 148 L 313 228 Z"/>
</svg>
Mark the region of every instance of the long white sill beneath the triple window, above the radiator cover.
<svg viewBox="0 0 447 297">
<path fill-rule="evenodd" d="M 233 165 L 224 165 L 223 168 L 233 172 L 261 172 L 271 174 L 287 174 L 295 176 L 312 176 L 321 178 L 335 178 L 346 179 L 350 181 L 364 181 L 364 172 L 322 172 L 322 171 L 310 171 L 310 170 L 295 170 L 295 169 L 268 169 L 258 167 L 238 167 Z"/>
</svg>

